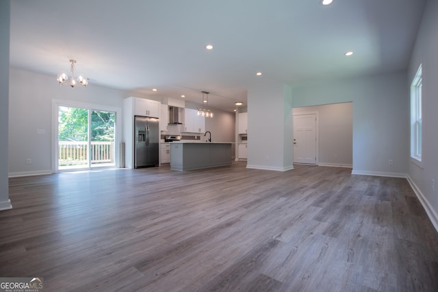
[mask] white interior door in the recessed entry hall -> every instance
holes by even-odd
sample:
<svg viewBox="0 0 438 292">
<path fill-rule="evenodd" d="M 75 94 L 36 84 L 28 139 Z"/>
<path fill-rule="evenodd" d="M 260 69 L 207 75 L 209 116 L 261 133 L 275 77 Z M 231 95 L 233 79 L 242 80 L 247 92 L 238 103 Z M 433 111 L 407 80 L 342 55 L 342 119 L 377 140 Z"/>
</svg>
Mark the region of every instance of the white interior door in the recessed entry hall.
<svg viewBox="0 0 438 292">
<path fill-rule="evenodd" d="M 294 163 L 316 164 L 316 114 L 294 116 Z"/>
</svg>

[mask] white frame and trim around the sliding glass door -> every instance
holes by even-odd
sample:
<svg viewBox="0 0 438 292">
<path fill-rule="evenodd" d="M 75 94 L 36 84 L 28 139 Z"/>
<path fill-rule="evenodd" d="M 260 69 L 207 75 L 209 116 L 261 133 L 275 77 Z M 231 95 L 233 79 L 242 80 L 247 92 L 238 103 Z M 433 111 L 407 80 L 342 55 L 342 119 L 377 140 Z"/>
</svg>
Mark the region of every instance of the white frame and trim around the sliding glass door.
<svg viewBox="0 0 438 292">
<path fill-rule="evenodd" d="M 70 101 L 70 100 L 62 100 L 62 99 L 52 99 L 52 137 L 51 137 L 51 159 L 52 159 L 52 173 L 62 172 L 60 169 L 58 169 L 57 165 L 57 157 L 58 157 L 58 147 L 57 147 L 57 136 L 58 136 L 58 107 L 59 106 L 66 106 L 70 108 L 84 108 L 86 110 L 102 110 L 107 112 L 116 112 L 116 127 L 114 130 L 116 131 L 114 133 L 114 167 L 120 167 L 120 142 L 122 137 L 122 108 L 116 108 L 112 106 L 102 106 L 99 104 L 88 104 L 86 102 L 79 102 L 79 101 Z M 88 132 L 90 132 L 90 123 L 88 123 Z M 99 167 L 100 169 L 101 167 Z M 105 167 L 102 167 L 105 168 Z M 111 168 L 111 167 L 110 167 Z M 88 167 L 83 167 L 81 169 L 68 169 L 65 171 L 79 171 L 79 170 L 90 170 L 92 169 L 92 166 L 89 165 Z"/>
</svg>

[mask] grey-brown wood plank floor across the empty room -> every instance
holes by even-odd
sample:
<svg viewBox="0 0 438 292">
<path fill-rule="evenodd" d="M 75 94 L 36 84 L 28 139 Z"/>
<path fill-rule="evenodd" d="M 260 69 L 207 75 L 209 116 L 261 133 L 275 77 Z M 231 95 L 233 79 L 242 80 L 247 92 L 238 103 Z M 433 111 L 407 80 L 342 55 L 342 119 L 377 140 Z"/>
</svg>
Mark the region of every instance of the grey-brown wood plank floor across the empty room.
<svg viewBox="0 0 438 292">
<path fill-rule="evenodd" d="M 45 291 L 438 291 L 438 234 L 407 180 L 350 172 L 11 178 L 0 276 Z"/>
</svg>

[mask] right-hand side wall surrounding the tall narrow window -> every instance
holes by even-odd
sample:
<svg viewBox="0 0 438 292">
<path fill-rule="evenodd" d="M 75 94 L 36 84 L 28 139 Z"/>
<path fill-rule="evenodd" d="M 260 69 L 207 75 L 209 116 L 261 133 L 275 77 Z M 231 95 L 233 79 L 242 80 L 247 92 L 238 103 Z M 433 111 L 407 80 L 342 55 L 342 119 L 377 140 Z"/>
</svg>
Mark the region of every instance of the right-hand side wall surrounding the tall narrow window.
<svg viewBox="0 0 438 292">
<path fill-rule="evenodd" d="M 438 230 L 438 1 L 429 0 L 424 9 L 415 49 L 409 66 L 407 86 L 422 64 L 422 168 L 409 162 L 409 178 Z M 409 102 L 409 97 L 407 97 Z M 435 187 L 433 186 L 435 180 Z"/>
</svg>

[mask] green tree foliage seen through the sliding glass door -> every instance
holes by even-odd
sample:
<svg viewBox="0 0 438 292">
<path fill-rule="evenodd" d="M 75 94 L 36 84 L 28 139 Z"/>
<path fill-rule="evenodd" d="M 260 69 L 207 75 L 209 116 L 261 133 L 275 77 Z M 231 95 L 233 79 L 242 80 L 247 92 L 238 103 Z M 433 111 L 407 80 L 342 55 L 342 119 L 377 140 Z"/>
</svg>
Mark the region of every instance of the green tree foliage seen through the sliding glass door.
<svg viewBox="0 0 438 292">
<path fill-rule="evenodd" d="M 59 108 L 59 141 L 88 140 L 88 110 Z M 114 112 L 91 111 L 91 141 L 114 141 Z"/>
</svg>

